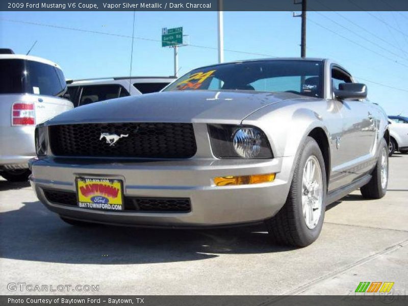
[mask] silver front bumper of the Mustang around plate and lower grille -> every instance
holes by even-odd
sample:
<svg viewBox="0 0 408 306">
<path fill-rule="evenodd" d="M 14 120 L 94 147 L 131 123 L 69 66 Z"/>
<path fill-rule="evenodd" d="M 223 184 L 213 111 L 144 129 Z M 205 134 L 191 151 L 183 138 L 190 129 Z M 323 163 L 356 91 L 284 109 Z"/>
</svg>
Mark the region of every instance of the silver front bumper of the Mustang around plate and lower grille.
<svg viewBox="0 0 408 306">
<path fill-rule="evenodd" d="M 145 226 L 218 226 L 257 222 L 276 214 L 285 203 L 294 157 L 272 160 L 183 160 L 106 163 L 47 158 L 33 161 L 31 185 L 51 211 L 101 223 Z M 276 173 L 270 183 L 224 186 L 213 178 Z M 43 189 L 75 192 L 75 177 L 123 181 L 125 196 L 189 198 L 188 213 L 108 212 L 64 206 L 47 200 Z"/>
</svg>

